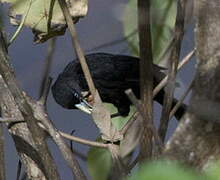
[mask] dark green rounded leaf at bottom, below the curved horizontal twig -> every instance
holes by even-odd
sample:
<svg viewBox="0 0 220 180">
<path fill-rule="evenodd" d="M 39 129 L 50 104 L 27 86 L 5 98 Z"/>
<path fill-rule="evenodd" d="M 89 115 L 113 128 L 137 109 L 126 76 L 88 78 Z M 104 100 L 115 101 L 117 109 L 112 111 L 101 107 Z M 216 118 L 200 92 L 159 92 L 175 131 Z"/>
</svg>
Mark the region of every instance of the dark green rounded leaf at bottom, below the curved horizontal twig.
<svg viewBox="0 0 220 180">
<path fill-rule="evenodd" d="M 91 147 L 88 152 L 87 165 L 93 180 L 107 179 L 112 166 L 110 152 L 107 149 Z"/>
</svg>

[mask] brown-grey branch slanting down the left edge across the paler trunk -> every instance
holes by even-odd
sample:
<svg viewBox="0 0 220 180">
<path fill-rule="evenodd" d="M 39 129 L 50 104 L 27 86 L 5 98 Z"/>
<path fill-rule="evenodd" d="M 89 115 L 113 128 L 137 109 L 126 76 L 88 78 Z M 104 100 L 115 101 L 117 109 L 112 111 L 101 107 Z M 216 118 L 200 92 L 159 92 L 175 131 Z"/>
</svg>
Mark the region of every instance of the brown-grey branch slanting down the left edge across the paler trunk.
<svg viewBox="0 0 220 180">
<path fill-rule="evenodd" d="M 12 69 L 9 66 L 9 60 L 6 53 L 7 45 L 3 44 L 4 37 L 2 33 L 0 34 L 0 74 L 4 79 L 9 91 L 11 92 L 14 100 L 27 122 L 28 129 L 31 132 L 31 135 L 36 145 L 39 157 L 42 162 L 42 171 L 44 172 L 46 178 L 48 179 L 59 179 L 58 172 L 55 167 L 53 158 L 48 150 L 47 144 L 44 140 L 44 133 L 39 128 L 37 120 L 34 117 L 33 109 L 30 104 L 27 102 L 23 92 L 18 86 L 18 83 L 15 79 Z"/>
</svg>

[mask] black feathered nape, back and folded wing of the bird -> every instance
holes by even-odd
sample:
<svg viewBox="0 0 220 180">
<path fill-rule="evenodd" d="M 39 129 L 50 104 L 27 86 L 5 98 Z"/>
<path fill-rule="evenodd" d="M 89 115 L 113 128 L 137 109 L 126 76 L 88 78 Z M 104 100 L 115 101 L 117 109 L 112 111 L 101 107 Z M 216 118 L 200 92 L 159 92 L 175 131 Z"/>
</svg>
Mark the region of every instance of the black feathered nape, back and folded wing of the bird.
<svg viewBox="0 0 220 180">
<path fill-rule="evenodd" d="M 98 89 L 103 86 L 106 88 L 117 88 L 120 85 L 126 84 L 125 81 L 127 79 L 131 83 L 132 81 L 138 81 L 138 58 L 108 53 L 89 54 L 85 58 Z M 72 79 L 77 81 L 83 90 L 88 89 L 78 59 L 70 62 L 59 75 L 59 78 Z"/>
</svg>

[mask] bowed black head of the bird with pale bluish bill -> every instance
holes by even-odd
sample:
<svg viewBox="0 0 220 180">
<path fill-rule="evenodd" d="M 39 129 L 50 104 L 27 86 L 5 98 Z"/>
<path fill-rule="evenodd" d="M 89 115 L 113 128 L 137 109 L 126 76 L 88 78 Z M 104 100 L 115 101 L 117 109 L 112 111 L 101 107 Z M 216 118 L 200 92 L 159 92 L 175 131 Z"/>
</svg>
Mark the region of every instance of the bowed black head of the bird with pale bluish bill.
<svg viewBox="0 0 220 180">
<path fill-rule="evenodd" d="M 59 79 L 52 86 L 55 101 L 67 109 L 80 109 L 91 114 L 90 93 L 82 91 L 77 82 Z"/>
</svg>

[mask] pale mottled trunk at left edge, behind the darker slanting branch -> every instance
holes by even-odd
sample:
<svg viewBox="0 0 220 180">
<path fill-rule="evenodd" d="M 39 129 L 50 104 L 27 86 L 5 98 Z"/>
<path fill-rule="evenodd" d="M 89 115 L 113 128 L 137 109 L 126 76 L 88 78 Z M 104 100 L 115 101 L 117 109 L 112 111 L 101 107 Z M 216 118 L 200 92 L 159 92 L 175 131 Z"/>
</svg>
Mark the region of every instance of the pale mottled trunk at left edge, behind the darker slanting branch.
<svg viewBox="0 0 220 180">
<path fill-rule="evenodd" d="M 23 120 L 23 117 L 14 103 L 13 96 L 6 88 L 6 85 L 0 76 L 0 92 L 1 92 L 1 107 L 3 118 L 14 118 Z M 37 150 L 34 141 L 31 138 L 31 133 L 27 128 L 25 122 L 8 123 L 8 130 L 12 135 L 17 152 L 19 154 L 22 164 L 25 165 L 26 173 L 29 179 L 44 180 L 46 179 L 42 170 L 38 166 Z"/>
</svg>

